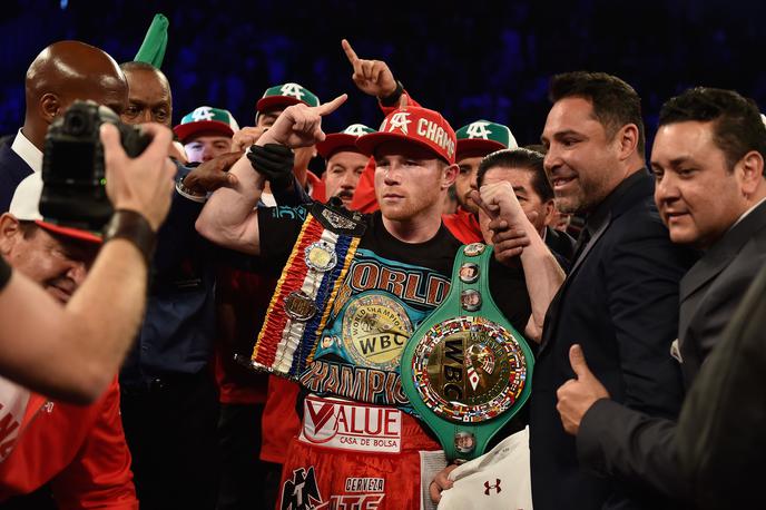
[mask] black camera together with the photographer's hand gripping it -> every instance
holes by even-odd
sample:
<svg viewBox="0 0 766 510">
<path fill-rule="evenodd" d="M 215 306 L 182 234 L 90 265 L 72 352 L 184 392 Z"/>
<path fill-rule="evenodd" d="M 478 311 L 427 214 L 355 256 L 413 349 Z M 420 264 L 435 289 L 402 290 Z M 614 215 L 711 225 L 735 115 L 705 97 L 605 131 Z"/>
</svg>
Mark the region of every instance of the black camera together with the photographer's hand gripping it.
<svg viewBox="0 0 766 510">
<path fill-rule="evenodd" d="M 75 101 L 46 136 L 40 213 L 100 231 L 114 209 L 127 209 L 156 232 L 173 195 L 170 143 L 170 130 L 158 124 L 128 126 L 107 107 Z"/>
</svg>

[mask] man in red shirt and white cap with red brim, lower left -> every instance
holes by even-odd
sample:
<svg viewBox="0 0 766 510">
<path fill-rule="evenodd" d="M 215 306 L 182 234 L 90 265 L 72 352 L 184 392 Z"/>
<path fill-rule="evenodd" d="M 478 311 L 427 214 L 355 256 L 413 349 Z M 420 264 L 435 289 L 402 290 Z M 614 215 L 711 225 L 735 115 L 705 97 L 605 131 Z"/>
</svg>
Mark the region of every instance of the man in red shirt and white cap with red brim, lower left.
<svg viewBox="0 0 766 510">
<path fill-rule="evenodd" d="M 40 174 L 17 188 L 10 212 L 0 216 L 0 253 L 66 304 L 101 238 L 43 222 Z M 0 377 L 0 501 L 50 482 L 59 508 L 138 508 L 116 376 L 87 406 L 48 400 Z"/>
</svg>

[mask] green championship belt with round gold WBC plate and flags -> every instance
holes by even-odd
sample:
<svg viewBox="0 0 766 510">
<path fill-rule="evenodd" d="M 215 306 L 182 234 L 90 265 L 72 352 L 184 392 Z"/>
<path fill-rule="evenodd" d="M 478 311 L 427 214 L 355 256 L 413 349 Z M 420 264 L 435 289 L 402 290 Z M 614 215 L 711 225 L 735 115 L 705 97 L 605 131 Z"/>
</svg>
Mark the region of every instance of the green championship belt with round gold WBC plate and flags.
<svg viewBox="0 0 766 510">
<path fill-rule="evenodd" d="M 484 453 L 529 398 L 533 356 L 490 295 L 492 247 L 464 245 L 450 294 L 402 353 L 402 389 L 450 460 Z"/>
</svg>

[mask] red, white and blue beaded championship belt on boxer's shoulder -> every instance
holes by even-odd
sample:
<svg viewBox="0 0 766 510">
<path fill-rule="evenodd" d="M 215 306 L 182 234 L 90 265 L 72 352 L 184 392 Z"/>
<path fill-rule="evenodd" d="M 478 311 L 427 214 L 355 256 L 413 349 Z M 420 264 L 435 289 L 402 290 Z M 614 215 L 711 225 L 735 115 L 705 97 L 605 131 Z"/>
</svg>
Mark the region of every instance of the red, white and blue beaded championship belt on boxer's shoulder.
<svg viewBox="0 0 766 510">
<path fill-rule="evenodd" d="M 313 361 L 338 287 L 365 231 L 362 216 L 314 203 L 279 276 L 251 366 L 297 380 Z"/>
</svg>

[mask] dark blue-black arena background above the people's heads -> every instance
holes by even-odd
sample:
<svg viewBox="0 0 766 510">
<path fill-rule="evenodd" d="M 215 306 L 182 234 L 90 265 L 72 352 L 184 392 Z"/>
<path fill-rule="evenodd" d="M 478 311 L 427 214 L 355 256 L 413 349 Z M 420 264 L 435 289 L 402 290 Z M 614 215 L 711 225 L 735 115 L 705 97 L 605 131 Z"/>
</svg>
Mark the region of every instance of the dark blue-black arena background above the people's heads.
<svg viewBox="0 0 766 510">
<path fill-rule="evenodd" d="M 253 122 L 273 85 L 296 81 L 323 100 L 350 92 L 327 131 L 377 127 L 376 102 L 356 90 L 340 40 L 383 59 L 423 106 L 458 129 L 478 118 L 537 143 L 548 80 L 566 70 L 615 73 L 644 99 L 649 139 L 662 101 L 694 85 L 766 101 L 766 2 L 571 0 L 546 2 L 82 1 L 3 2 L 0 135 L 23 121 L 23 76 L 50 42 L 78 39 L 131 60 L 156 12 L 170 20 L 163 70 L 174 124 L 197 106 Z"/>
</svg>

